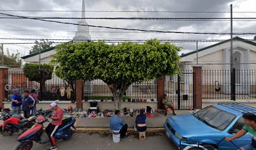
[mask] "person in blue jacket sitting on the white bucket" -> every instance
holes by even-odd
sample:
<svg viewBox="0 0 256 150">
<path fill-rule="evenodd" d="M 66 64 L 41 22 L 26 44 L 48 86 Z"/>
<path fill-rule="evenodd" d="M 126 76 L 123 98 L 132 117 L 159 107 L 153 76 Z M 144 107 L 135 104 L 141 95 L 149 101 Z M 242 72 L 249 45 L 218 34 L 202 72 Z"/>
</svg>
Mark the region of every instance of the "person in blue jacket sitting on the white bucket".
<svg viewBox="0 0 256 150">
<path fill-rule="evenodd" d="M 120 133 L 120 138 L 126 138 L 128 125 L 119 117 L 120 111 L 116 110 L 115 115 L 110 118 L 110 130 L 114 133 Z"/>
</svg>

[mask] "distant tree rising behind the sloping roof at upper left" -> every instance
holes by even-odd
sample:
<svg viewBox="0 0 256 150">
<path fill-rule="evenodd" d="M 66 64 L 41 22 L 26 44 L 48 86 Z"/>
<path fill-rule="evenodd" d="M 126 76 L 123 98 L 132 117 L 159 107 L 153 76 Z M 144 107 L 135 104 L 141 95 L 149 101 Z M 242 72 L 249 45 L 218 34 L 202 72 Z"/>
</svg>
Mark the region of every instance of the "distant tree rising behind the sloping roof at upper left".
<svg viewBox="0 0 256 150">
<path fill-rule="evenodd" d="M 29 54 L 37 53 L 45 49 L 49 49 L 52 46 L 53 41 L 48 41 L 48 39 L 41 39 L 40 41 L 35 41 L 35 45 L 31 47 Z"/>
</svg>

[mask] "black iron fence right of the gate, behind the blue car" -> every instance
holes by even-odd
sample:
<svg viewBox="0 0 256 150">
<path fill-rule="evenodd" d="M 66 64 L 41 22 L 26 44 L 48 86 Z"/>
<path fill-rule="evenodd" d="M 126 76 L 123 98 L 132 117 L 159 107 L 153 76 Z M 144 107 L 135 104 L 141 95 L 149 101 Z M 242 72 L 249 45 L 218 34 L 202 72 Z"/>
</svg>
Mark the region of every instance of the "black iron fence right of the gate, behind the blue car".
<svg viewBox="0 0 256 150">
<path fill-rule="evenodd" d="M 235 99 L 256 99 L 256 70 L 203 70 L 203 99 L 231 99 L 232 85 Z"/>
</svg>

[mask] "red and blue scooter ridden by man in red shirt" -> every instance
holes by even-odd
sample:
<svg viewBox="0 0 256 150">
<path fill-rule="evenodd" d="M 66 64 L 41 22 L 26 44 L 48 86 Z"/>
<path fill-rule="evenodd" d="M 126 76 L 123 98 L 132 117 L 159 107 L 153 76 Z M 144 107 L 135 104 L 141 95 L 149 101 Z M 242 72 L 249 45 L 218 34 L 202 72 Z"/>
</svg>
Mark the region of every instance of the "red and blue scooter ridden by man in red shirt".
<svg viewBox="0 0 256 150">
<path fill-rule="evenodd" d="M 19 145 L 16 147 L 16 150 L 30 150 L 33 147 L 33 141 L 40 144 L 45 144 L 50 141 L 46 133 L 43 133 L 43 123 L 46 123 L 48 119 L 44 116 L 38 116 L 36 118 L 36 123 L 32 128 L 25 131 L 21 134 L 17 141 Z M 73 131 L 71 128 L 76 129 L 75 124 L 76 119 L 68 118 L 64 119 L 61 124 L 61 128 L 55 133 L 54 137 L 56 140 L 63 139 L 68 140 L 72 138 Z"/>
</svg>

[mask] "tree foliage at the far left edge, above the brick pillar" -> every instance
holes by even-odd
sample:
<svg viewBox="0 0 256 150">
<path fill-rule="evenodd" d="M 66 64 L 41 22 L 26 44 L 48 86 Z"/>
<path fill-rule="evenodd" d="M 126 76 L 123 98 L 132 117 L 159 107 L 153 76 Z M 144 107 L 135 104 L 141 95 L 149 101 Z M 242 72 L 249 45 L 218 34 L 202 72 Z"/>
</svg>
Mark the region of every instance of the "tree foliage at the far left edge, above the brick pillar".
<svg viewBox="0 0 256 150">
<path fill-rule="evenodd" d="M 0 49 L 2 49 L 2 47 L 0 46 Z M 14 53 L 9 53 L 9 49 L 7 49 L 7 53 L 6 54 L 2 54 L 0 53 L 0 64 L 2 64 L 2 60 L 4 58 L 4 66 L 8 66 L 10 68 L 16 68 L 16 67 L 20 67 L 21 66 L 21 57 L 20 57 L 20 53 L 14 54 Z"/>
</svg>

